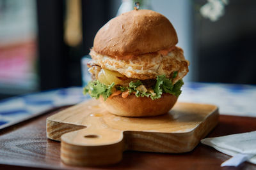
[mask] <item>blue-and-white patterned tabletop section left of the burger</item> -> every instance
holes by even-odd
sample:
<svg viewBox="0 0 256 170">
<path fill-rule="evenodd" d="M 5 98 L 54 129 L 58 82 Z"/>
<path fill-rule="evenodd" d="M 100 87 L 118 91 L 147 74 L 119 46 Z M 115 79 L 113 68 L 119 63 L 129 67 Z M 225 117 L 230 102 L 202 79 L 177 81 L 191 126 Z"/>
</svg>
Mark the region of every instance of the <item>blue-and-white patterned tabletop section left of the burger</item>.
<svg viewBox="0 0 256 170">
<path fill-rule="evenodd" d="M 81 87 L 56 89 L 0 101 L 0 129 L 35 117 L 59 106 L 77 104 L 90 98 Z"/>
</svg>

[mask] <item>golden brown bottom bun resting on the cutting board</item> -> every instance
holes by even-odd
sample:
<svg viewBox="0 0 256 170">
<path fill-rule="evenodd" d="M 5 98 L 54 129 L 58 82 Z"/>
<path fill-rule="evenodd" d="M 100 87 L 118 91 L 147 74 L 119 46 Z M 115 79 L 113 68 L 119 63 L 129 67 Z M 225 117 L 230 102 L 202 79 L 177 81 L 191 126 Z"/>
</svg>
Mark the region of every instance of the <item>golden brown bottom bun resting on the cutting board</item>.
<svg viewBox="0 0 256 170">
<path fill-rule="evenodd" d="M 134 94 L 123 98 L 121 95 L 111 99 L 100 97 L 100 101 L 110 112 L 122 117 L 151 117 L 167 113 L 177 101 L 171 94 L 163 94 L 161 98 L 152 100 L 150 97 L 136 97 Z"/>
</svg>

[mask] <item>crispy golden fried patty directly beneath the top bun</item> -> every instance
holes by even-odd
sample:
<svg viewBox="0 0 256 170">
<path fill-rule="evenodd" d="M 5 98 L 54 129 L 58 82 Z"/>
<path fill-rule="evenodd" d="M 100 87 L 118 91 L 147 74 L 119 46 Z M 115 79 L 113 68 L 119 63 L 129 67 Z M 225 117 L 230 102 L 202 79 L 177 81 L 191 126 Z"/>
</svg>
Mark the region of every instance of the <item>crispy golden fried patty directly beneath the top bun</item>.
<svg viewBox="0 0 256 170">
<path fill-rule="evenodd" d="M 174 71 L 178 75 L 173 83 L 182 79 L 188 73 L 189 62 L 184 58 L 183 50 L 177 46 L 167 55 L 161 53 L 147 53 L 132 57 L 129 60 L 118 59 L 117 57 L 100 55 L 91 50 L 92 65 L 100 66 L 104 69 L 117 71 L 124 74 L 127 78 L 139 80 L 155 79 L 157 75 L 165 74 L 171 78 Z"/>
</svg>

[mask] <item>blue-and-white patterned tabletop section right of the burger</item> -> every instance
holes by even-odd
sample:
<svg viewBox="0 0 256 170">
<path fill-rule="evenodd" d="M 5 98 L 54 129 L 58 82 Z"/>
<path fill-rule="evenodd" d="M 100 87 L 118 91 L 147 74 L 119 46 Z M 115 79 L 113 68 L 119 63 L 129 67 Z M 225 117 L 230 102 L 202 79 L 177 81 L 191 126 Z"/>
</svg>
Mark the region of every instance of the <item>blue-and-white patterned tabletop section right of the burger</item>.
<svg viewBox="0 0 256 170">
<path fill-rule="evenodd" d="M 222 115 L 256 117 L 255 85 L 186 83 L 179 101 L 214 104 Z"/>
</svg>

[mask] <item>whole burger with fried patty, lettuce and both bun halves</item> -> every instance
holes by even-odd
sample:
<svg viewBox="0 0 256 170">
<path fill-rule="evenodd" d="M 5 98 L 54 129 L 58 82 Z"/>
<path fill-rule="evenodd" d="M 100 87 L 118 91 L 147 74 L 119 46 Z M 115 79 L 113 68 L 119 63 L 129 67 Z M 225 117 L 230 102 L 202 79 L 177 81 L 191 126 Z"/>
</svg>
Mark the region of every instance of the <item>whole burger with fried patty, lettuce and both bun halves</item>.
<svg viewBox="0 0 256 170">
<path fill-rule="evenodd" d="M 188 73 L 177 33 L 156 11 L 133 10 L 109 20 L 90 50 L 92 81 L 84 94 L 124 117 L 167 113 L 176 103 Z"/>
</svg>

